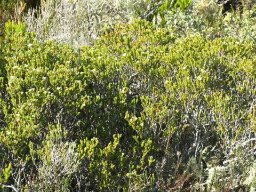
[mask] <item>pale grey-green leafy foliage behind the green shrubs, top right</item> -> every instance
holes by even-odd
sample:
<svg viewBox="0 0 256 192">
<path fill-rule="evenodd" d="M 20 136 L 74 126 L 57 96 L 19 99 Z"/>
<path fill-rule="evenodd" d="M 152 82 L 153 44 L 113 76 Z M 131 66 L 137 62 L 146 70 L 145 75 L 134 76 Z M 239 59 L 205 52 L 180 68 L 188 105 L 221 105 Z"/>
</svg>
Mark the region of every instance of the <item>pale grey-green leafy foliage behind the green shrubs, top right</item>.
<svg viewBox="0 0 256 192">
<path fill-rule="evenodd" d="M 186 37 L 203 35 L 206 38 L 237 37 L 255 41 L 255 6 L 243 14 L 231 12 L 223 18 L 215 4 L 198 1 L 191 12 L 169 11 L 166 13 L 166 28 Z"/>
</svg>

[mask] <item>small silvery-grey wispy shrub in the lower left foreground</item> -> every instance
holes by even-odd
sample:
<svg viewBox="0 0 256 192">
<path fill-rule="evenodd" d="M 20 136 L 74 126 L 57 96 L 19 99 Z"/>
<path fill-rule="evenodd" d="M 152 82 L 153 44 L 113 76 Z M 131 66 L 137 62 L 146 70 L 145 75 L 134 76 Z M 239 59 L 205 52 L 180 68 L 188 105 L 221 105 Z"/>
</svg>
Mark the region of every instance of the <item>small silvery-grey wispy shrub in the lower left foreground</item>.
<svg viewBox="0 0 256 192">
<path fill-rule="evenodd" d="M 39 188 L 43 191 L 68 191 L 71 179 L 79 168 L 76 144 L 53 144 L 50 154 L 42 159 L 38 170 Z"/>
</svg>

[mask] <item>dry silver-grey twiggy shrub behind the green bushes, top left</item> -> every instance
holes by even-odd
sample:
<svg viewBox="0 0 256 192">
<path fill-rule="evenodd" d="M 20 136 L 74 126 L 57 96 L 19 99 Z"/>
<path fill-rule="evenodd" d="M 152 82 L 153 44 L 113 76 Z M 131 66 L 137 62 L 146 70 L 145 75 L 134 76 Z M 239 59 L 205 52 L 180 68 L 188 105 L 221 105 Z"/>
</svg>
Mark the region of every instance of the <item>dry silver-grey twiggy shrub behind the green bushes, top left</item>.
<svg viewBox="0 0 256 192">
<path fill-rule="evenodd" d="M 30 9 L 24 15 L 28 31 L 34 31 L 39 41 L 68 43 L 75 47 L 91 45 L 104 26 L 129 22 L 135 17 L 135 7 L 145 0 L 46 0 L 39 11 Z M 37 17 L 35 17 L 35 14 Z"/>
</svg>

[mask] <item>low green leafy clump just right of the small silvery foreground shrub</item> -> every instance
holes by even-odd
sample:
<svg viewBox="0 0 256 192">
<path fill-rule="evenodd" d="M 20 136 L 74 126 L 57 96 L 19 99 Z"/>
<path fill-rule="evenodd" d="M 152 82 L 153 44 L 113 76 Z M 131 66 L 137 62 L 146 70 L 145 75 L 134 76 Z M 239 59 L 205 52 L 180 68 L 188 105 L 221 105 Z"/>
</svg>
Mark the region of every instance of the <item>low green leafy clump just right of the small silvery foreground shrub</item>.
<svg viewBox="0 0 256 192">
<path fill-rule="evenodd" d="M 127 157 L 119 147 L 120 134 L 113 135 L 113 142 L 101 149 L 97 138 L 81 140 L 78 146 L 79 155 L 85 158 L 89 167 L 89 178 L 94 180 L 98 190 L 119 190 L 124 185 L 123 174 Z M 95 186 L 95 187 L 96 187 Z"/>
</svg>

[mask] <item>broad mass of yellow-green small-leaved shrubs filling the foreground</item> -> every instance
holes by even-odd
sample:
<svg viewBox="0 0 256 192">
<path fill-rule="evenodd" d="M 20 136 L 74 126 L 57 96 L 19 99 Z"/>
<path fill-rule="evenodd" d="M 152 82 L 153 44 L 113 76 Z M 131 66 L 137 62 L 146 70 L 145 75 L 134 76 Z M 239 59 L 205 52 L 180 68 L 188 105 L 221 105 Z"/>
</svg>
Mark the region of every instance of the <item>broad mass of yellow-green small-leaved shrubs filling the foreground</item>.
<svg viewBox="0 0 256 192">
<path fill-rule="evenodd" d="M 145 20 L 106 28 L 94 46 L 78 50 L 39 43 L 23 24 L 7 23 L 5 34 L 0 146 L 7 152 L 0 157 L 14 169 L 26 162 L 24 177 L 35 170 L 22 187 L 188 191 L 210 186 L 206 179 L 220 190 L 241 184 L 255 152 L 250 39 L 182 37 L 175 26 Z M 221 180 L 212 170 L 223 167 Z"/>
</svg>

